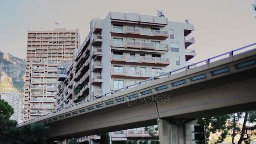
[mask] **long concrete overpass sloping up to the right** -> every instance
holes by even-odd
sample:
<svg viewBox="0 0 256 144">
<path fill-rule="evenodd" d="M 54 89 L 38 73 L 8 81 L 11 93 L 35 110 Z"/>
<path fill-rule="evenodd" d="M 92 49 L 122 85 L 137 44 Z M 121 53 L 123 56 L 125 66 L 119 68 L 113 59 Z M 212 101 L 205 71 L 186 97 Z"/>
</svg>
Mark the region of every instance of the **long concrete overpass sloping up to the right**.
<svg viewBox="0 0 256 144">
<path fill-rule="evenodd" d="M 168 121 L 256 110 L 255 86 L 256 43 L 18 126 L 42 122 L 49 125 L 50 136 L 61 140 L 156 125 L 158 119 L 160 139 L 168 141 L 170 134 L 167 136 L 165 130 Z"/>
</svg>

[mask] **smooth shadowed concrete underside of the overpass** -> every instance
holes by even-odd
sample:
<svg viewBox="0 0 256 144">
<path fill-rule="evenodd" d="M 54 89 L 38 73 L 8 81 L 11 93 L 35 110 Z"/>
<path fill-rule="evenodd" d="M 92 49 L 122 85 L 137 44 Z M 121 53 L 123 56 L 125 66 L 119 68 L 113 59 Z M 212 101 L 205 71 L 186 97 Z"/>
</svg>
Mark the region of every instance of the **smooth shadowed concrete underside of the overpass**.
<svg viewBox="0 0 256 144">
<path fill-rule="evenodd" d="M 256 110 L 256 69 L 161 93 L 168 102 L 157 102 L 160 118 L 195 119 Z M 158 95 L 157 97 L 160 97 Z M 48 124 L 56 140 L 157 125 L 154 102 L 136 101 L 106 107 Z"/>
</svg>

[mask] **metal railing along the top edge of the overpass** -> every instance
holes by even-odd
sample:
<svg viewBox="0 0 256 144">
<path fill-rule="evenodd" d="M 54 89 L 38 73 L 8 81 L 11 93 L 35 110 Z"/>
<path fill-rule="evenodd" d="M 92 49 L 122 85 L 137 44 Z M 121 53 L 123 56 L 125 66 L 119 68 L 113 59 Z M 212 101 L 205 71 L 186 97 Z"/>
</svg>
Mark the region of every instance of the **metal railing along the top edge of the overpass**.
<svg viewBox="0 0 256 144">
<path fill-rule="evenodd" d="M 213 61 L 216 61 L 216 59 L 218 59 L 218 58 L 220 58 L 220 57 L 221 57 L 222 59 L 228 58 L 228 57 L 230 57 L 230 56 L 234 56 L 234 55 L 237 55 L 237 54 L 239 54 L 239 53 L 243 53 L 243 52 L 245 52 L 245 51 L 249 51 L 249 50 L 251 50 L 251 49 L 256 49 L 256 43 L 253 43 L 253 44 L 251 44 L 251 45 L 246 45 L 246 46 L 244 46 L 244 47 L 242 47 L 242 48 L 237 48 L 237 49 L 235 49 L 235 50 L 233 50 L 233 51 L 229 51 L 229 52 L 226 52 L 226 53 L 222 53 L 222 54 L 220 54 L 220 55 L 218 55 L 218 56 L 213 56 L 213 57 L 208 58 L 208 59 L 205 59 L 205 60 L 203 60 L 203 61 L 198 61 L 197 63 L 194 63 L 194 64 L 189 64 L 189 65 L 187 65 L 187 66 L 185 66 L 185 67 L 181 67 L 181 68 L 179 68 L 179 69 L 175 69 L 175 70 L 172 70 L 172 71 L 169 71 L 169 72 L 166 72 L 166 73 L 157 75 L 157 76 L 155 76 L 155 77 L 151 77 L 151 78 L 149 78 L 149 79 L 147 79 L 147 80 L 142 80 L 142 81 L 140 81 L 139 83 L 135 83 L 135 84 L 132 84 L 132 85 L 128 85 L 128 86 L 126 86 L 126 87 L 124 87 L 124 88 L 119 88 L 119 89 L 117 89 L 117 90 L 115 90 L 115 91 L 110 91 L 110 92 L 108 92 L 108 93 L 104 93 L 104 94 L 101 94 L 101 95 L 99 95 L 99 96 L 95 96 L 95 97 L 93 97 L 93 98 L 86 99 L 86 100 L 81 101 L 81 102 L 79 102 L 79 103 L 72 104 L 72 105 L 70 105 L 70 106 L 68 106 L 68 107 L 64 107 L 64 108 L 55 110 L 55 111 L 53 111 L 53 112 L 50 112 L 50 113 L 48 113 L 48 114 L 41 115 L 41 116 L 39 116 L 39 117 L 35 117 L 35 118 L 33 118 L 33 119 L 24 121 L 24 122 L 22 122 L 22 123 L 19 123 L 18 125 L 21 125 L 21 124 L 24 124 L 24 123 L 26 123 L 26 122 L 30 122 L 30 121 L 36 120 L 36 119 L 38 119 L 38 118 L 40 118 L 40 117 L 44 117 L 44 116 L 47 116 L 47 115 L 52 115 L 52 114 L 54 114 L 54 113 L 56 113 L 56 112 L 60 112 L 60 111 L 65 110 L 65 109 L 69 109 L 69 108 L 71 108 L 71 107 L 76 107 L 76 106 L 78 106 L 78 105 L 80 105 L 80 104 L 85 104 L 85 103 L 94 101 L 94 100 L 99 99 L 99 98 L 101 98 L 101 97 L 106 97 L 106 96 L 109 96 L 109 95 L 111 95 L 111 94 L 118 93 L 119 91 L 123 91 L 123 90 L 129 89 L 129 88 L 133 88 L 133 87 L 136 86 L 136 85 L 142 85 L 142 84 L 144 84 L 144 83 L 150 83 L 151 81 L 154 81 L 154 80 L 156 80 L 156 79 L 158 79 L 158 78 L 168 77 L 169 75 L 172 75 L 173 73 L 179 73 L 179 72 L 182 72 L 182 71 L 187 70 L 187 69 L 192 69 L 192 68 L 194 68 L 194 67 L 199 67 L 199 66 L 202 66 L 202 65 L 205 65 L 205 64 L 209 64 L 209 63 L 211 63 L 211 62 L 213 62 Z M 225 57 L 223 57 L 223 56 L 225 56 Z M 219 59 L 219 60 L 221 60 L 221 59 Z"/>
</svg>

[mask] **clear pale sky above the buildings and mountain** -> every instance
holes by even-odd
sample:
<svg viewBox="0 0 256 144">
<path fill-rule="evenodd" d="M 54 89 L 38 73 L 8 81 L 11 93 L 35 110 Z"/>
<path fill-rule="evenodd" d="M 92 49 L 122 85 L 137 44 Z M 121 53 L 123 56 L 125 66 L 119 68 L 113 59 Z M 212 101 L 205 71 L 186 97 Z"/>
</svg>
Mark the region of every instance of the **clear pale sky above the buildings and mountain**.
<svg viewBox="0 0 256 144">
<path fill-rule="evenodd" d="M 80 29 L 81 41 L 93 18 L 109 11 L 155 15 L 194 24 L 192 62 L 256 42 L 255 0 L 0 0 L 0 51 L 26 57 L 27 29 Z"/>
</svg>

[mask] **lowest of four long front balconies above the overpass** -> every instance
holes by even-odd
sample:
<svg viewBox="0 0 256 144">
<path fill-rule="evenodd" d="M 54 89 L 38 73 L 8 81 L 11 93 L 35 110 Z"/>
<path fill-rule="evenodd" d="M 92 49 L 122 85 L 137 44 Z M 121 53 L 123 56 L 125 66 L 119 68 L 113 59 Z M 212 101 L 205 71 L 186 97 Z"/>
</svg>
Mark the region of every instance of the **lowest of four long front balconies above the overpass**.
<svg viewBox="0 0 256 144">
<path fill-rule="evenodd" d="M 130 69 L 110 69 L 110 75 L 112 77 L 122 78 L 138 78 L 138 79 L 147 79 L 157 75 L 161 75 L 165 72 L 157 71 L 140 71 L 140 70 L 130 70 Z"/>
</svg>

